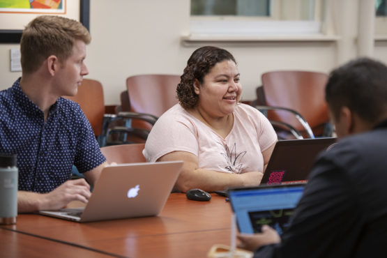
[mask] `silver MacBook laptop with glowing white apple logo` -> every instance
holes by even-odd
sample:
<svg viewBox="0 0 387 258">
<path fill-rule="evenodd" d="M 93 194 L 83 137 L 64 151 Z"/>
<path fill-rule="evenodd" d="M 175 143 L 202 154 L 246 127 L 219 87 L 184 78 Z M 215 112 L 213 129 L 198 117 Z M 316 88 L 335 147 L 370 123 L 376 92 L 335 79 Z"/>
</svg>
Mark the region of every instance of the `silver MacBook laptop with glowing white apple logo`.
<svg viewBox="0 0 387 258">
<path fill-rule="evenodd" d="M 158 215 L 179 176 L 183 161 L 107 166 L 84 208 L 39 211 L 42 215 L 91 222 Z"/>
</svg>

